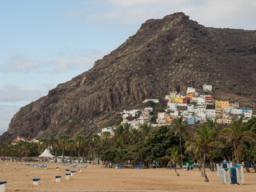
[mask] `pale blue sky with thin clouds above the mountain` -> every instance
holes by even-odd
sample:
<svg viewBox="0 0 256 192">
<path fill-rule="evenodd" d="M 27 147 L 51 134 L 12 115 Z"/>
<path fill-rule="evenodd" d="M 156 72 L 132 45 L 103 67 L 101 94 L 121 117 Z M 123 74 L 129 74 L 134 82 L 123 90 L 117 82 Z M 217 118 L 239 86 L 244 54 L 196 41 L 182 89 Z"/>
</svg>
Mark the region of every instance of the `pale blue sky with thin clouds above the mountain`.
<svg viewBox="0 0 256 192">
<path fill-rule="evenodd" d="M 0 0 L 0 134 L 147 19 L 182 11 L 203 26 L 256 30 L 255 10 L 252 0 Z"/>
</svg>

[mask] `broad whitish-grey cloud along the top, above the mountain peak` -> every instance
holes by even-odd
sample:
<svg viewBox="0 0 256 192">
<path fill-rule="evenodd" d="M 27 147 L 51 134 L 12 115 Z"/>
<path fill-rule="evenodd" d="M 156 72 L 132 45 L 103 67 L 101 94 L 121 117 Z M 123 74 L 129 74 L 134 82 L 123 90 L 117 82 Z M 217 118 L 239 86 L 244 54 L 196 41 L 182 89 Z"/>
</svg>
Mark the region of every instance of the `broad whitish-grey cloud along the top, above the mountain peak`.
<svg viewBox="0 0 256 192">
<path fill-rule="evenodd" d="M 100 0 L 85 3 L 68 16 L 112 27 L 182 11 L 205 26 L 255 29 L 255 10 L 256 1 L 251 0 Z"/>
</svg>

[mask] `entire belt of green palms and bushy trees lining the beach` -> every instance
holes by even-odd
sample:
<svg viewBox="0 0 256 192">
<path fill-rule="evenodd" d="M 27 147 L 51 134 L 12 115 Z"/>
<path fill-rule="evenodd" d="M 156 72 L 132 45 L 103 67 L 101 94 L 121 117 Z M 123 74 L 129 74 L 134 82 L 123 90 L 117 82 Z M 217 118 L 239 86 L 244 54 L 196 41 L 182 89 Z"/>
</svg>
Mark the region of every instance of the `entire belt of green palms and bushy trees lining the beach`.
<svg viewBox="0 0 256 192">
<path fill-rule="evenodd" d="M 10 141 L 5 142 L 0 146 L 0 155 L 26 159 L 38 157 L 46 147 L 51 147 L 55 161 L 58 155 L 62 159 L 69 155 L 70 161 L 72 158 L 78 161 L 100 158 L 110 166 L 114 163 L 166 167 L 171 163 L 176 168 L 176 163 L 182 165 L 182 160 L 192 159 L 198 159 L 203 170 L 206 164 L 214 170 L 214 163 L 223 160 L 252 162 L 256 166 L 256 118 L 247 123 L 242 123 L 242 118 L 225 128 L 209 119 L 200 127 L 189 128 L 182 118 L 177 118 L 173 126 L 160 126 L 155 130 L 146 124 L 136 130 L 125 123 L 114 130 L 114 136 L 103 133 L 101 137 L 98 134 L 90 138 L 77 135 L 71 139 L 66 135 L 60 138 L 50 135 L 39 143 L 18 142 L 12 145 Z M 208 181 L 205 171 L 202 171 L 202 176 Z"/>
</svg>

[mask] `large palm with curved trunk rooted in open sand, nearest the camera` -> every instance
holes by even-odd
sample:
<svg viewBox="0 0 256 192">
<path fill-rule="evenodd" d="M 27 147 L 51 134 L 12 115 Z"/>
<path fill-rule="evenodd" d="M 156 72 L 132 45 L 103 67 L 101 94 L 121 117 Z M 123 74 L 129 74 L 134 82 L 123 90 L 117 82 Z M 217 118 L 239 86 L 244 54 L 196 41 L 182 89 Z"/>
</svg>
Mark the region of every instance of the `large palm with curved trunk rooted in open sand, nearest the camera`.
<svg viewBox="0 0 256 192">
<path fill-rule="evenodd" d="M 202 171 L 205 177 L 205 182 L 209 182 L 209 179 L 206 175 L 206 154 L 210 152 L 212 147 L 223 147 L 222 142 L 217 142 L 216 136 L 217 131 L 215 129 L 210 129 L 206 124 L 202 124 L 201 129 L 194 128 L 196 132 L 195 138 L 190 138 L 190 140 L 186 141 L 186 146 L 188 149 L 197 149 L 202 151 L 203 154 L 203 166 Z"/>
</svg>

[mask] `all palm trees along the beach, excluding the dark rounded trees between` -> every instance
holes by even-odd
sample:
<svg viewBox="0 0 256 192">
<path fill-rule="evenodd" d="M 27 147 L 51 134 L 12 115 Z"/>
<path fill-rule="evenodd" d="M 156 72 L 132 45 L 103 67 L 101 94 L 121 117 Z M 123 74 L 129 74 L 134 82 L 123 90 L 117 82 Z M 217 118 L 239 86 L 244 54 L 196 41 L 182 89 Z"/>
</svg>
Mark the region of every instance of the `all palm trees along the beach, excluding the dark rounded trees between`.
<svg viewBox="0 0 256 192">
<path fill-rule="evenodd" d="M 216 119 L 215 121 L 207 119 L 207 122 L 202 124 L 200 128 L 194 127 L 192 129 L 194 131 L 191 131 L 191 129 L 190 131 L 188 130 L 185 122 L 182 121 L 183 118 L 175 118 L 169 131 L 169 133 L 174 133 L 179 138 L 179 149 L 175 147 L 172 148 L 170 155 L 170 160 L 174 164 L 175 172 L 177 173 L 176 162 L 181 162 L 180 164 L 183 165 L 184 154 L 192 152 L 202 163 L 202 176 L 205 177 L 206 182 L 209 181 L 205 171 L 206 158 L 210 158 L 210 155 L 214 153 L 214 149 L 222 149 L 226 146 L 226 143 L 223 143 L 220 138 L 226 138 L 226 142 L 232 143 L 234 159 L 237 163 L 240 163 L 242 143 L 244 141 L 255 141 L 254 129 L 256 128 L 255 123 L 252 126 L 246 126 L 242 123 L 242 118 L 233 120 L 230 126 L 224 129 L 218 126 Z M 51 147 L 54 152 L 55 161 L 57 161 L 58 154 L 62 154 L 62 162 L 64 162 L 64 155 L 69 154 L 70 161 L 72 156 L 75 155 L 78 156 L 78 161 L 80 162 L 81 160 L 84 161 L 85 157 L 87 159 L 100 158 L 104 151 L 110 148 L 123 150 L 135 146 L 138 142 L 146 140 L 148 134 L 150 134 L 150 130 L 151 127 L 147 124 L 144 124 L 137 130 L 131 128 L 130 124 L 124 123 L 114 130 L 113 137 L 110 137 L 109 132 L 104 132 L 102 138 L 100 138 L 98 134 L 93 134 L 90 138 L 77 135 L 73 139 L 69 138 L 67 135 L 62 135 L 59 138 L 50 135 L 49 138 L 42 138 L 39 144 L 18 142 L 18 144 L 12 146 L 10 142 L 5 142 L 0 146 L 0 155 L 18 158 L 38 156 L 46 147 Z M 182 146 L 186 147 L 184 153 Z"/>
</svg>

